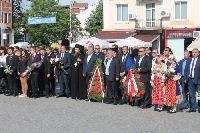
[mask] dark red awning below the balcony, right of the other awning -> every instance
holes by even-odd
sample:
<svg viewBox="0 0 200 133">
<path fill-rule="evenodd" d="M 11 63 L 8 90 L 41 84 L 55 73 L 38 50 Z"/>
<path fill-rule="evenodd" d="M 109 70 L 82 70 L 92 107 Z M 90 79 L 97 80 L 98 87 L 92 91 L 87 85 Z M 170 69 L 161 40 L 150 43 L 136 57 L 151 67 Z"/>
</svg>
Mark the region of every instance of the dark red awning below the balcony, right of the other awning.
<svg viewBox="0 0 200 133">
<path fill-rule="evenodd" d="M 154 34 L 154 35 L 140 34 L 140 35 L 135 35 L 134 38 L 139 39 L 144 42 L 151 42 L 154 39 L 156 39 L 158 36 L 159 36 L 159 34 Z"/>
</svg>

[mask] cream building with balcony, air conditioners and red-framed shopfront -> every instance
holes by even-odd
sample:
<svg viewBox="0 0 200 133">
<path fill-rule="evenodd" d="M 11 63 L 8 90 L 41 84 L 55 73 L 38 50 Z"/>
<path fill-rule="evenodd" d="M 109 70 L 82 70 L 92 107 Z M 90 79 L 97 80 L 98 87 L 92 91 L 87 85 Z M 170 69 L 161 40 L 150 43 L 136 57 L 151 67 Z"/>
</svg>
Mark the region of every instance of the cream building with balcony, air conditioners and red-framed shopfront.
<svg viewBox="0 0 200 133">
<path fill-rule="evenodd" d="M 161 53 L 167 46 L 176 50 L 174 54 L 178 60 L 192 42 L 193 32 L 200 26 L 199 0 L 103 1 L 103 32 L 133 30 L 133 37 L 149 41 L 152 48 Z"/>
</svg>

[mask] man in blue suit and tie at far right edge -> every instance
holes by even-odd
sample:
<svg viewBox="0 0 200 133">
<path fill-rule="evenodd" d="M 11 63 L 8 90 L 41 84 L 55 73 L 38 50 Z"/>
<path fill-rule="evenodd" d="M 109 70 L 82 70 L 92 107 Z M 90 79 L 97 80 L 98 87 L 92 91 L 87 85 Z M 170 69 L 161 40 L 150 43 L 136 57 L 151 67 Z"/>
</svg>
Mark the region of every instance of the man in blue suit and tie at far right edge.
<svg viewBox="0 0 200 133">
<path fill-rule="evenodd" d="M 184 82 L 188 83 L 190 95 L 190 110 L 189 112 L 196 112 L 196 92 L 200 88 L 200 58 L 199 50 L 192 50 L 192 58 L 186 62 L 184 71 Z M 200 100 L 198 99 L 198 112 L 200 113 Z"/>
</svg>

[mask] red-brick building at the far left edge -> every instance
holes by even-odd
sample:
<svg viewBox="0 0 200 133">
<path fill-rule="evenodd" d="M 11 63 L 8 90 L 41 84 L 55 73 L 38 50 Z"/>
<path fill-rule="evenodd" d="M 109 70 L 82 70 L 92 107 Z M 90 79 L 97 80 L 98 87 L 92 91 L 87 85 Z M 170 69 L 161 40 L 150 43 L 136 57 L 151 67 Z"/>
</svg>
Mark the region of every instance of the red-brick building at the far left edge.
<svg viewBox="0 0 200 133">
<path fill-rule="evenodd" d="M 1 46 L 13 42 L 12 30 L 12 0 L 1 1 Z"/>
</svg>

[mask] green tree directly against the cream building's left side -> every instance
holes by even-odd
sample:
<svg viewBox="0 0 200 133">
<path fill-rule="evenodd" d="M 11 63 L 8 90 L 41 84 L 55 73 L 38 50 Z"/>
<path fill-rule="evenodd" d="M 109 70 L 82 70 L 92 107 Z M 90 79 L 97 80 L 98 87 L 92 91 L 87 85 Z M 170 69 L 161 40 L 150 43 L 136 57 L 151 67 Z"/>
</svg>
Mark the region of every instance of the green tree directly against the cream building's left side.
<svg viewBox="0 0 200 133">
<path fill-rule="evenodd" d="M 94 35 L 103 29 L 103 0 L 99 1 L 99 5 L 86 20 L 85 30 Z"/>
</svg>

